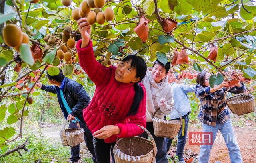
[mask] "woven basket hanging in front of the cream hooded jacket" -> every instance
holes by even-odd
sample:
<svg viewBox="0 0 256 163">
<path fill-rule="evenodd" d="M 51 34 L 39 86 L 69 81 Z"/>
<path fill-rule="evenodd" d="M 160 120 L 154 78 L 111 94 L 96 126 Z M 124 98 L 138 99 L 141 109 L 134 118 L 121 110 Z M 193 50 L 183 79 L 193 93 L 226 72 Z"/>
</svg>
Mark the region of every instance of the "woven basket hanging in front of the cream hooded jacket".
<svg viewBox="0 0 256 163">
<path fill-rule="evenodd" d="M 176 108 L 174 108 L 177 110 Z M 160 108 L 158 108 L 160 110 Z M 156 110 L 156 112 L 158 112 Z M 156 115 L 156 112 L 153 116 Z M 180 114 L 180 112 L 177 110 Z M 182 116 L 180 114 L 180 120 L 163 120 L 160 118 L 153 118 L 154 134 L 158 137 L 167 137 L 173 139 L 178 134 L 182 124 Z"/>
</svg>

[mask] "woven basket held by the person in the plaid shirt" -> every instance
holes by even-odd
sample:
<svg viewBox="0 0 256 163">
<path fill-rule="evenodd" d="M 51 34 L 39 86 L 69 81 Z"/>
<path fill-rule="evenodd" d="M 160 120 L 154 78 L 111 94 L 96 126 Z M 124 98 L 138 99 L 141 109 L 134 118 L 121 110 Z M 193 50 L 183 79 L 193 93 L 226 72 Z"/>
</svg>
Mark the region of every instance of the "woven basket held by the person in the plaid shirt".
<svg viewBox="0 0 256 163">
<path fill-rule="evenodd" d="M 250 94 L 241 93 L 241 94 L 235 94 L 234 96 L 226 98 L 227 92 L 230 89 L 231 87 L 225 91 L 224 99 L 226 101 L 226 105 L 228 106 L 228 108 L 231 110 L 232 113 L 240 116 L 240 115 L 254 112 L 255 100 L 254 100 L 254 96 L 252 95 L 252 92 L 248 88 L 246 89 L 248 90 L 248 92 L 250 92 Z"/>
</svg>

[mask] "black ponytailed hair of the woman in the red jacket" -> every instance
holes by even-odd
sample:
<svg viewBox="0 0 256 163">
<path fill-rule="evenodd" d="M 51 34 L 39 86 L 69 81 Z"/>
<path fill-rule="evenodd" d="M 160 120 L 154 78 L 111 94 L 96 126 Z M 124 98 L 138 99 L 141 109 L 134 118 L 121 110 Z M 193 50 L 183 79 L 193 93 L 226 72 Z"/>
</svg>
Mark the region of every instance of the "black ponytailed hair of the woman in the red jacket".
<svg viewBox="0 0 256 163">
<path fill-rule="evenodd" d="M 131 61 L 131 67 L 136 68 L 136 78 L 140 77 L 140 81 L 145 77 L 147 72 L 147 65 L 145 61 L 142 59 L 142 57 L 138 57 L 136 55 L 128 55 L 125 57 L 122 61 L 129 62 Z M 130 110 L 128 112 L 129 115 L 134 115 L 137 113 L 140 102 L 144 96 L 142 87 L 138 84 L 140 81 L 136 82 L 134 84 L 134 101 L 130 107 Z"/>
</svg>

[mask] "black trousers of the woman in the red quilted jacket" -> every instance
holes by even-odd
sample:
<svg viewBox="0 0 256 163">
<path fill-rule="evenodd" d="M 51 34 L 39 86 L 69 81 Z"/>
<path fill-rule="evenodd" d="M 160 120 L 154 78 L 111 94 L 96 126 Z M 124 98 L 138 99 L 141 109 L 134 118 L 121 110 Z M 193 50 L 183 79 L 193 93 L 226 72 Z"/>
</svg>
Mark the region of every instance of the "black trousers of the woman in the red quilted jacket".
<svg viewBox="0 0 256 163">
<path fill-rule="evenodd" d="M 110 153 L 112 163 L 115 163 L 113 148 L 116 143 L 105 143 L 104 139 L 93 138 L 94 150 L 97 163 L 110 163 Z"/>
</svg>

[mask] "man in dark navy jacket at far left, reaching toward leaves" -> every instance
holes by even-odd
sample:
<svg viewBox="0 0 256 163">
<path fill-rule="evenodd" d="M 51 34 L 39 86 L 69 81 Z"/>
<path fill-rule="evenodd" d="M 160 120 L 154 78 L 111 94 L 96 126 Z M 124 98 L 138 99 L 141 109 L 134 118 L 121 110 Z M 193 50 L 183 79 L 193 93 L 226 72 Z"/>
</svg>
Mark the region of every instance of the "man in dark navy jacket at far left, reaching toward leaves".
<svg viewBox="0 0 256 163">
<path fill-rule="evenodd" d="M 96 163 L 94 147 L 93 147 L 93 136 L 90 130 L 87 128 L 84 122 L 82 110 L 90 103 L 90 96 L 84 90 L 83 86 L 76 81 L 73 81 L 65 77 L 60 69 L 59 75 L 51 76 L 47 72 L 48 82 L 52 85 L 44 85 L 38 83 L 38 87 L 46 92 L 57 94 L 60 108 L 64 114 L 66 120 L 70 121 L 69 128 L 77 128 L 76 120 L 79 122 L 80 127 L 84 129 L 84 140 L 92 159 Z M 75 120 L 76 119 L 76 120 Z M 71 147 L 70 161 L 76 163 L 80 160 L 80 145 Z"/>
</svg>

